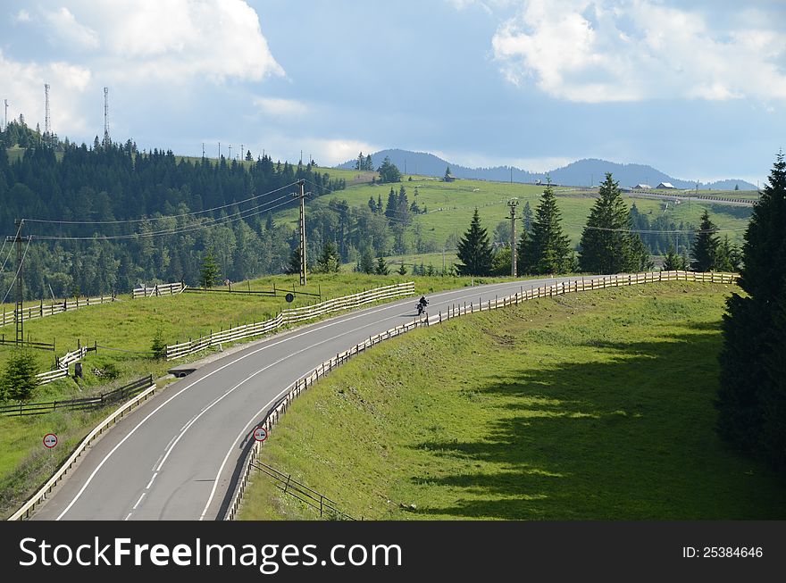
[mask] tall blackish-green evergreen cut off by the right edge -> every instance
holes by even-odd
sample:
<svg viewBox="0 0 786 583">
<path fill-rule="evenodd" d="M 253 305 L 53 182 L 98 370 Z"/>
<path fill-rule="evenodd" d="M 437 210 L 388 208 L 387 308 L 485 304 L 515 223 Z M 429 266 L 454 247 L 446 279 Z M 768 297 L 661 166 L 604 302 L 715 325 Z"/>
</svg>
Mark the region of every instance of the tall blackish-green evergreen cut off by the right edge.
<svg viewBox="0 0 786 583">
<path fill-rule="evenodd" d="M 739 284 L 723 316 L 718 432 L 786 471 L 786 162 L 779 153 L 745 231 Z"/>
</svg>

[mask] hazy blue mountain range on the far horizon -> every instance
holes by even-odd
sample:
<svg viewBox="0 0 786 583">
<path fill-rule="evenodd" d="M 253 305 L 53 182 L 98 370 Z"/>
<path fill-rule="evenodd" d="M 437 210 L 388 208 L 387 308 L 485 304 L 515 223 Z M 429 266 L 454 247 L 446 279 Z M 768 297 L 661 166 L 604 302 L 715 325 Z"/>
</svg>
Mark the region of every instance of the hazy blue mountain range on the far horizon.
<svg viewBox="0 0 786 583">
<path fill-rule="evenodd" d="M 379 168 L 385 157 L 390 158 L 390 162 L 397 165 L 398 170 L 406 174 L 422 174 L 425 176 L 444 176 L 447 167 L 450 172 L 459 179 L 482 179 L 499 180 L 514 182 L 537 182 L 545 181 L 546 176 L 556 184 L 564 184 L 576 187 L 598 186 L 606 177 L 606 172 L 611 172 L 615 180 L 619 180 L 621 187 L 632 187 L 636 184 L 648 184 L 656 187 L 661 182 L 670 182 L 678 188 L 695 188 L 696 183 L 690 180 L 675 179 L 662 171 L 658 171 L 652 166 L 644 164 L 619 164 L 588 158 L 571 162 L 567 166 L 556 168 L 548 172 L 530 172 L 510 166 L 495 166 L 492 168 L 467 168 L 459 164 L 447 162 L 426 152 L 411 152 L 409 150 L 381 150 L 372 154 L 374 168 Z M 351 170 L 355 168 L 355 160 L 344 162 L 337 166 Z M 711 183 L 698 183 L 699 188 L 715 188 L 722 190 L 733 190 L 735 186 L 740 190 L 756 190 L 756 186 L 746 180 L 725 179 Z"/>
</svg>

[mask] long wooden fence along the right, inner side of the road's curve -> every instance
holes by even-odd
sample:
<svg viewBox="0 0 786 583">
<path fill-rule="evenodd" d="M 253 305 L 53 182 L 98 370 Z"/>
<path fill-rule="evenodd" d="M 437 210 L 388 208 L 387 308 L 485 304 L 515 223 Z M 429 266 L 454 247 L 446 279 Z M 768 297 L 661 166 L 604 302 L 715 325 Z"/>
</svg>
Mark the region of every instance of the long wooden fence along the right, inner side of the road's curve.
<svg viewBox="0 0 786 583">
<path fill-rule="evenodd" d="M 278 423 L 280 417 L 287 412 L 289 405 L 299 396 L 305 389 L 311 387 L 318 379 L 321 379 L 333 369 L 339 367 L 341 364 L 347 362 L 356 354 L 364 353 L 367 349 L 389 340 L 389 338 L 406 334 L 410 330 L 417 328 L 428 327 L 433 324 L 440 324 L 443 321 L 451 320 L 458 316 L 463 316 L 473 312 L 485 312 L 488 310 L 496 310 L 498 308 L 506 307 L 509 305 L 517 305 L 522 302 L 537 299 L 539 297 L 554 297 L 562 296 L 563 294 L 575 293 L 581 291 L 591 291 L 593 289 L 603 289 L 605 287 L 623 287 L 634 286 L 645 283 L 656 283 L 659 281 L 691 281 L 697 283 L 723 283 L 731 284 L 739 279 L 737 273 L 696 273 L 693 271 L 652 271 L 648 273 L 635 273 L 631 275 L 611 275 L 611 276 L 588 276 L 586 278 L 571 279 L 569 281 L 562 281 L 559 283 L 550 284 L 547 286 L 534 287 L 531 289 L 522 289 L 513 296 L 495 296 L 494 299 L 483 300 L 481 296 L 478 297 L 477 304 L 453 304 L 448 306 L 446 310 L 436 313 L 423 315 L 414 321 L 407 322 L 397 326 L 396 328 L 389 329 L 385 332 L 377 334 L 376 336 L 369 337 L 360 344 L 352 346 L 349 350 L 336 354 L 335 358 L 322 362 L 313 371 L 309 372 L 294 383 L 289 385 L 285 390 L 285 396 L 281 397 L 278 403 L 274 404 L 270 411 L 268 411 L 263 421 L 258 423 L 255 427 L 263 427 L 267 430 L 268 435 L 271 434 L 273 426 Z M 247 453 L 247 458 L 243 463 L 240 479 L 232 495 L 230 504 L 227 508 L 224 520 L 233 521 L 238 513 L 238 508 L 242 502 L 248 479 L 251 471 L 255 467 L 257 456 L 259 455 L 260 447 L 263 442 L 255 441 Z"/>
</svg>

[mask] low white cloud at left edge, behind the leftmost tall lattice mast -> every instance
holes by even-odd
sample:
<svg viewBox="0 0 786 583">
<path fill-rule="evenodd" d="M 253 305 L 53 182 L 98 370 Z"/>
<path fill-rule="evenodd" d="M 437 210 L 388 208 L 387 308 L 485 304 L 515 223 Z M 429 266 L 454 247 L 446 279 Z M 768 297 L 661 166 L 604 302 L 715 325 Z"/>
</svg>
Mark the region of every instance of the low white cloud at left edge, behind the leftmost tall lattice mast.
<svg viewBox="0 0 786 583">
<path fill-rule="evenodd" d="M 0 51 L 0 78 L 5 79 L 4 89 L 9 96 L 9 119 L 18 118 L 23 113 L 29 126 L 35 128 L 37 123 L 43 126 L 44 84 L 49 83 L 54 133 L 63 137 L 88 129 L 79 110 L 80 97 L 92 78 L 88 69 L 66 62 L 46 65 L 17 62 L 6 58 Z"/>
</svg>

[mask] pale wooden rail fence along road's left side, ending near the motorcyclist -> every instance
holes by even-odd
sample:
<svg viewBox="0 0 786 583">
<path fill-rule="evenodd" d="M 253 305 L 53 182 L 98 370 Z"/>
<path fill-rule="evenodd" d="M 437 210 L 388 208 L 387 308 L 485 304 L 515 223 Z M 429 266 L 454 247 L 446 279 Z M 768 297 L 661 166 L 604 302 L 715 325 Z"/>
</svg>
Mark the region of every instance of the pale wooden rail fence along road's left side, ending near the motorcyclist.
<svg viewBox="0 0 786 583">
<path fill-rule="evenodd" d="M 167 346 L 166 360 L 171 361 L 182 358 L 188 354 L 197 353 L 210 346 L 219 346 L 225 342 L 266 334 L 272 330 L 280 329 L 287 324 L 310 320 L 326 313 L 338 312 L 339 310 L 346 310 L 348 308 L 370 304 L 391 297 L 411 296 L 412 294 L 414 294 L 414 281 L 408 281 L 406 283 L 399 283 L 391 286 L 377 287 L 369 291 L 352 294 L 351 296 L 338 297 L 302 308 L 283 310 L 278 316 L 271 320 L 244 324 L 242 326 L 236 326 L 235 328 L 222 330 L 221 332 L 211 332 L 207 336 L 198 337 L 196 340 L 188 340 L 188 342 Z"/>
</svg>

